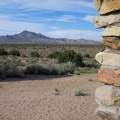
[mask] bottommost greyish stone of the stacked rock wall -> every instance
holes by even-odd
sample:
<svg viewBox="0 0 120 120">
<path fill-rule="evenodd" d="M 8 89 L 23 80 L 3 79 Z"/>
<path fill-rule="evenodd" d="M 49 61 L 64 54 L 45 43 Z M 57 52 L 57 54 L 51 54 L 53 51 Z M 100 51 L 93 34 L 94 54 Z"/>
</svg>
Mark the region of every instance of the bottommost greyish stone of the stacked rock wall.
<svg viewBox="0 0 120 120">
<path fill-rule="evenodd" d="M 96 110 L 96 115 L 100 120 L 120 120 L 119 109 L 115 107 L 100 106 Z"/>
</svg>

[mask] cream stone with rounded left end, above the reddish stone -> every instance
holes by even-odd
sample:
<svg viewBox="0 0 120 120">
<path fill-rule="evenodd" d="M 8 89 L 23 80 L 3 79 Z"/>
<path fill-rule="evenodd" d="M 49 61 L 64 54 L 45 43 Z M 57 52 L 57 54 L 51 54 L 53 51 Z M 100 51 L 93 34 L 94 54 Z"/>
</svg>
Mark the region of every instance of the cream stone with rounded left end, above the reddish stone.
<svg viewBox="0 0 120 120">
<path fill-rule="evenodd" d="M 95 59 L 103 65 L 111 65 L 120 67 L 120 55 L 114 53 L 99 52 Z"/>
</svg>

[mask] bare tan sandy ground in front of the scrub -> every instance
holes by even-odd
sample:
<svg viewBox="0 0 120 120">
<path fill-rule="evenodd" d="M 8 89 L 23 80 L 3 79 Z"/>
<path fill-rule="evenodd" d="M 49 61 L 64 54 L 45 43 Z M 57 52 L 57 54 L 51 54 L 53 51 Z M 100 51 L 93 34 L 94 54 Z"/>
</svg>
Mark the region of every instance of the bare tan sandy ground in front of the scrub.
<svg viewBox="0 0 120 120">
<path fill-rule="evenodd" d="M 96 75 L 40 75 L 1 81 L 0 120 L 97 120 L 94 92 L 103 84 Z M 85 96 L 74 96 L 77 86 Z"/>
</svg>

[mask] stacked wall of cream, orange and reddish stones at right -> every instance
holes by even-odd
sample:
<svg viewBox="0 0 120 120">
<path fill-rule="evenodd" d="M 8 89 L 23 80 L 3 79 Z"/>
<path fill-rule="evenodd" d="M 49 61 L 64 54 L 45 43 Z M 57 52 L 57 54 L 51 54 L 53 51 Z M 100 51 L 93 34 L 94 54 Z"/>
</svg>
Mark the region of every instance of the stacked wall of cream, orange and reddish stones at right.
<svg viewBox="0 0 120 120">
<path fill-rule="evenodd" d="M 104 28 L 101 43 L 106 46 L 95 57 L 101 64 L 98 80 L 105 83 L 95 91 L 96 114 L 102 120 L 120 120 L 120 0 L 94 0 L 94 5 L 99 12 L 94 23 Z"/>
</svg>

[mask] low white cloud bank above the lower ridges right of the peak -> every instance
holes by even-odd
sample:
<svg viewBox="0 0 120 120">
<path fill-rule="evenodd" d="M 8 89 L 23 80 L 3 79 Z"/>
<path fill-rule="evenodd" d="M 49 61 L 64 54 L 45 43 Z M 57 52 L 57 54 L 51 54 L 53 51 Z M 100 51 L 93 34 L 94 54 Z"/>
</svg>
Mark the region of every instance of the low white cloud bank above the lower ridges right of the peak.
<svg viewBox="0 0 120 120">
<path fill-rule="evenodd" d="M 92 30 L 76 30 L 76 29 L 56 29 L 48 32 L 44 32 L 45 35 L 54 38 L 85 38 L 90 40 L 101 40 L 101 32 L 96 32 Z"/>
</svg>

